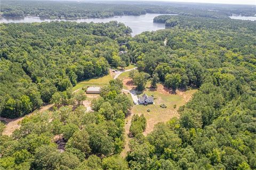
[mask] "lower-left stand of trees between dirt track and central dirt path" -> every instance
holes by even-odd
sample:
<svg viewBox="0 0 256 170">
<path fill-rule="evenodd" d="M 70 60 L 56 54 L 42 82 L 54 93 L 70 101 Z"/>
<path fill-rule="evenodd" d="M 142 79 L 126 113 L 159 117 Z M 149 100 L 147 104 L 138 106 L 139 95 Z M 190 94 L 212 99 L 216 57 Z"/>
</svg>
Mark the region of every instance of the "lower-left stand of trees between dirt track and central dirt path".
<svg viewBox="0 0 256 170">
<path fill-rule="evenodd" d="M 124 118 L 132 103 L 121 94 L 122 87 L 119 80 L 104 87 L 105 93 L 93 100 L 94 112 L 63 106 L 51 116 L 38 112 L 23 119 L 12 137 L 1 136 L 1 168 L 126 169 L 127 163 L 118 154 L 123 149 Z"/>
</svg>

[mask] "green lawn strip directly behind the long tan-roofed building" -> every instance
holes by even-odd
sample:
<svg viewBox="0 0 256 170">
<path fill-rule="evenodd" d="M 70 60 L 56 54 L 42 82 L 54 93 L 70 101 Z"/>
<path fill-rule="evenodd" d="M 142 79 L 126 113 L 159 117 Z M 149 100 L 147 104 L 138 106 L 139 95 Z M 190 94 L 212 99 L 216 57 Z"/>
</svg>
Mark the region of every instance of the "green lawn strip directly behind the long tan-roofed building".
<svg viewBox="0 0 256 170">
<path fill-rule="evenodd" d="M 73 91 L 79 90 L 83 87 L 87 86 L 106 86 L 109 84 L 109 81 L 112 80 L 113 78 L 110 75 L 103 76 L 103 77 L 98 77 L 98 78 L 91 78 L 84 80 L 82 82 L 77 83 L 75 87 L 73 87 Z"/>
</svg>

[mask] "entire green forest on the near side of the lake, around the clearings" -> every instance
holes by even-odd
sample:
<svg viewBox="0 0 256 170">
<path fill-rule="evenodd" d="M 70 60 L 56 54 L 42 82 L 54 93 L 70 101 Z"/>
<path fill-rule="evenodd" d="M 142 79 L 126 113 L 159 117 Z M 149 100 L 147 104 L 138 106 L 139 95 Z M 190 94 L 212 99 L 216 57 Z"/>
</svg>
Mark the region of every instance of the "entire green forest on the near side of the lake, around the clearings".
<svg viewBox="0 0 256 170">
<path fill-rule="evenodd" d="M 131 37 L 115 21 L 1 24 L 1 116 L 22 116 L 43 102 L 57 108 L 25 117 L 11 136 L 2 135 L 0 123 L 0 167 L 256 169 L 256 22 L 183 15 L 154 21 L 169 27 Z M 179 118 L 148 135 L 142 134 L 146 118 L 134 115 L 122 158 L 132 107 L 122 81 L 102 87 L 93 112 L 81 104 L 85 94 L 70 87 L 131 61 L 137 89 L 151 80 L 174 94 L 198 91 Z"/>
</svg>

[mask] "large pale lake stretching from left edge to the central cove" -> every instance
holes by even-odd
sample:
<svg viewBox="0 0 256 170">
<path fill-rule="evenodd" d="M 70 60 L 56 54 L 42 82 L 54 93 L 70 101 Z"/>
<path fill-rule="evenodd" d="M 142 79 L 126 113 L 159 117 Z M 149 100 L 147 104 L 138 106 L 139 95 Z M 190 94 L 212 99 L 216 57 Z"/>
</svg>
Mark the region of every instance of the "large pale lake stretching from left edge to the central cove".
<svg viewBox="0 0 256 170">
<path fill-rule="evenodd" d="M 0 18 L 0 23 L 10 23 L 10 22 L 45 22 L 45 21 L 75 21 L 75 22 L 109 22 L 118 21 L 124 23 L 132 29 L 132 36 L 142 33 L 143 31 L 155 31 L 158 29 L 164 29 L 164 23 L 154 23 L 153 19 L 158 16 L 163 15 L 159 13 L 147 13 L 140 16 L 125 15 L 118 17 L 109 18 L 76 18 L 76 19 L 57 19 L 57 18 L 39 18 L 39 17 L 2 17 Z"/>
</svg>

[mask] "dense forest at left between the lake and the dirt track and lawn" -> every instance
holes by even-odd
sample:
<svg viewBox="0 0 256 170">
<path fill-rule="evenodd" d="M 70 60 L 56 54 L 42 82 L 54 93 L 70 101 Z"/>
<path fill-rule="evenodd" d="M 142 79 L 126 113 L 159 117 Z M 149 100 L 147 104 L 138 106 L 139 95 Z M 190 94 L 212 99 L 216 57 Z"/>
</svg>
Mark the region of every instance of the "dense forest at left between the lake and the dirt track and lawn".
<svg viewBox="0 0 256 170">
<path fill-rule="evenodd" d="M 108 74 L 121 64 L 114 39 L 129 33 L 115 21 L 1 24 L 1 116 L 28 114 L 77 81 Z"/>
</svg>

